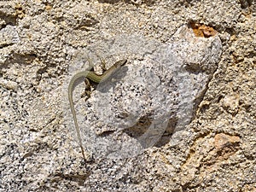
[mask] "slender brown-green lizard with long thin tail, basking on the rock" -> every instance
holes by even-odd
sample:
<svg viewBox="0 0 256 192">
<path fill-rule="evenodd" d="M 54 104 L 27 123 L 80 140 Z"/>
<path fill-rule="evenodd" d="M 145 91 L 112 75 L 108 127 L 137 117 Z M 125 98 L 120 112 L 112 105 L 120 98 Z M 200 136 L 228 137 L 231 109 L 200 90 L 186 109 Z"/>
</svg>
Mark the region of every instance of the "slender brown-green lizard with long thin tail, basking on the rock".
<svg viewBox="0 0 256 192">
<path fill-rule="evenodd" d="M 68 84 L 68 101 L 70 104 L 71 112 L 73 114 L 73 121 L 74 121 L 75 129 L 77 131 L 77 135 L 79 138 L 79 145 L 80 145 L 80 148 L 82 151 L 82 155 L 84 157 L 84 161 L 85 161 L 84 148 L 83 148 L 83 143 L 82 143 L 82 139 L 81 139 L 81 135 L 80 135 L 80 131 L 79 131 L 79 123 L 78 123 L 77 115 L 75 113 L 75 108 L 74 108 L 74 104 L 73 104 L 73 89 L 75 86 L 75 82 L 80 78 L 85 79 L 85 83 L 87 82 L 86 86 L 89 86 L 89 84 L 88 84 L 89 80 L 96 84 L 105 82 L 113 75 L 113 73 L 118 71 L 120 67 L 124 66 L 126 61 L 127 60 L 120 60 L 120 61 L 115 62 L 113 64 L 113 66 L 110 67 L 108 70 L 106 70 L 104 73 L 102 73 L 102 75 L 98 75 L 98 74 L 90 71 L 90 69 L 81 71 L 79 73 L 75 73 Z M 86 93 L 86 89 L 87 88 L 85 87 L 85 93 Z M 88 93 L 86 93 L 86 94 L 88 94 Z"/>
</svg>

